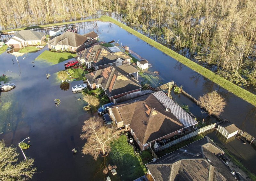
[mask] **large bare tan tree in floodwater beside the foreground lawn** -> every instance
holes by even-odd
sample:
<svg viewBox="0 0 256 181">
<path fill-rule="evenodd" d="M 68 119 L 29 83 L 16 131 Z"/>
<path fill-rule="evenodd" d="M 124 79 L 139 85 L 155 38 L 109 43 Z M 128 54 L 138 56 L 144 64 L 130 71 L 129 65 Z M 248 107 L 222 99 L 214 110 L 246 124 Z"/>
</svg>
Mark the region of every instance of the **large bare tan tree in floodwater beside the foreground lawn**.
<svg viewBox="0 0 256 181">
<path fill-rule="evenodd" d="M 106 155 L 110 151 L 110 142 L 118 138 L 118 132 L 114 127 L 104 126 L 102 119 L 91 117 L 84 121 L 81 134 L 82 139 L 86 139 L 83 147 L 85 155 L 92 155 L 97 160 L 100 154 Z"/>
</svg>

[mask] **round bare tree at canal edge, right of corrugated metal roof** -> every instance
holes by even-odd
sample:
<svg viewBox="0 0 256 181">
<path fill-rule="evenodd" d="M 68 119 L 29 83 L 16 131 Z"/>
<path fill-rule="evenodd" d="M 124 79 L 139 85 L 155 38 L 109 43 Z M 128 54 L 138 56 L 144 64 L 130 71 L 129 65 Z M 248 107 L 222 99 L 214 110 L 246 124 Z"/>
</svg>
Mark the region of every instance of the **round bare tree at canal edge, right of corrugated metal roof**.
<svg viewBox="0 0 256 181">
<path fill-rule="evenodd" d="M 226 101 L 224 98 L 218 94 L 217 91 L 212 91 L 200 96 L 197 104 L 204 108 L 209 115 L 220 116 L 220 114 L 224 111 L 224 107 Z"/>
</svg>

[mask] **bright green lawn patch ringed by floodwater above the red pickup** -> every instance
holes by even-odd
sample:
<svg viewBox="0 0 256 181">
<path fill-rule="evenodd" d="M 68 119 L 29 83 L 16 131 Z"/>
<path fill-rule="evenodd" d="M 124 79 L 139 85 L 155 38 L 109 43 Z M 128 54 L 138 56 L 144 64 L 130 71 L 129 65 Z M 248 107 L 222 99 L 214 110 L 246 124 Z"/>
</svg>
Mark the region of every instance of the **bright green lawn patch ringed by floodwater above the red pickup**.
<svg viewBox="0 0 256 181">
<path fill-rule="evenodd" d="M 67 52 L 56 53 L 45 50 L 42 54 L 36 57 L 35 60 L 44 60 L 52 64 L 57 64 L 73 57 L 76 57 L 76 54 L 71 54 Z"/>
</svg>

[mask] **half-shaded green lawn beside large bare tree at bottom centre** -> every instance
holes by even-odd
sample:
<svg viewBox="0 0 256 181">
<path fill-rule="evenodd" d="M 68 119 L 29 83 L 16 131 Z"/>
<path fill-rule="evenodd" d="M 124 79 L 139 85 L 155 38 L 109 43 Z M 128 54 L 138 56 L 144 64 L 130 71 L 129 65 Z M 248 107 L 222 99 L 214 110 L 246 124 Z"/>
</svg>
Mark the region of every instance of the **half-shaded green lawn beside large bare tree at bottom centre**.
<svg viewBox="0 0 256 181">
<path fill-rule="evenodd" d="M 117 166 L 117 174 L 121 180 L 134 180 L 147 173 L 144 164 L 150 162 L 152 156 L 148 150 L 143 151 L 141 156 L 135 156 L 126 135 L 121 135 L 111 144 L 108 159 L 110 164 Z"/>
</svg>

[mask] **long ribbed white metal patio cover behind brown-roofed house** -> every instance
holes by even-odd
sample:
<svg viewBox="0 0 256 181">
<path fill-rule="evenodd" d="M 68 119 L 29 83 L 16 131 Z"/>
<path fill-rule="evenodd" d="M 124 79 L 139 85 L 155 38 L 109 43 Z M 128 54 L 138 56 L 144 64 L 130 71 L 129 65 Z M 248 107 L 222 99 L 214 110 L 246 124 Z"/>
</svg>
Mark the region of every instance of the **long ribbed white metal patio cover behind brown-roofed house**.
<svg viewBox="0 0 256 181">
<path fill-rule="evenodd" d="M 163 91 L 152 93 L 160 103 L 164 105 L 185 127 L 190 127 L 197 124 L 197 121 L 193 119 L 186 111 L 184 111 L 179 105 L 177 105 L 171 98 L 169 98 Z"/>
</svg>

